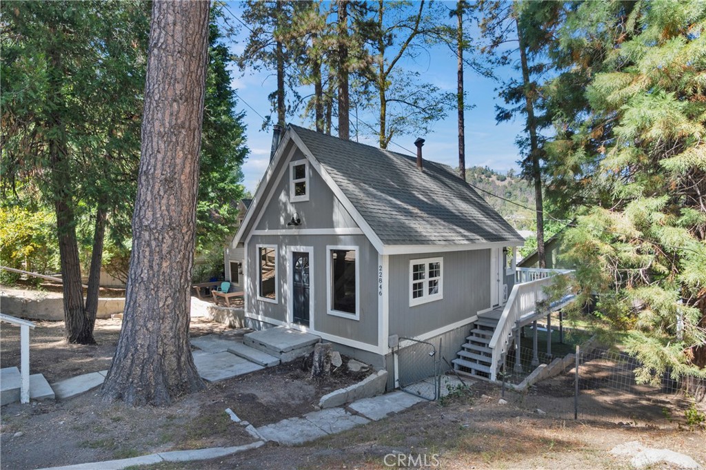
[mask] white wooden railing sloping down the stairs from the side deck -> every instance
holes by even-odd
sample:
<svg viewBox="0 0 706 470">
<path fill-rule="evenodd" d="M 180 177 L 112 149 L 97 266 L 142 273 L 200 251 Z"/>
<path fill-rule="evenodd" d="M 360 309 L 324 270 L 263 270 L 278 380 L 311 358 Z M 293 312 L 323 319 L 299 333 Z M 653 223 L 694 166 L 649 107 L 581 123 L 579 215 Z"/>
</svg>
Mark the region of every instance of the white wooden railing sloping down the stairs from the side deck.
<svg viewBox="0 0 706 470">
<path fill-rule="evenodd" d="M 537 302 L 541 302 L 549 297 L 549 295 L 544 292 L 544 288 L 551 286 L 551 284 L 554 283 L 554 275 L 571 272 L 568 270 L 539 271 L 540 272 L 538 275 L 542 275 L 544 277 L 540 277 L 539 279 L 530 282 L 523 282 L 522 284 L 515 284 L 513 291 L 510 292 L 508 302 L 505 303 L 503 314 L 498 321 L 498 326 L 496 327 L 495 332 L 493 332 L 493 337 L 489 344 L 489 348 L 493 350 L 490 376 L 491 380 L 496 380 L 497 378 L 498 363 L 500 363 L 501 358 L 503 358 L 503 355 L 508 351 L 510 339 L 513 336 L 513 329 L 515 328 L 515 323 L 517 323 L 517 320 L 520 320 L 523 316 L 535 311 L 537 309 Z M 547 275 L 545 271 L 551 272 L 551 274 Z"/>
</svg>

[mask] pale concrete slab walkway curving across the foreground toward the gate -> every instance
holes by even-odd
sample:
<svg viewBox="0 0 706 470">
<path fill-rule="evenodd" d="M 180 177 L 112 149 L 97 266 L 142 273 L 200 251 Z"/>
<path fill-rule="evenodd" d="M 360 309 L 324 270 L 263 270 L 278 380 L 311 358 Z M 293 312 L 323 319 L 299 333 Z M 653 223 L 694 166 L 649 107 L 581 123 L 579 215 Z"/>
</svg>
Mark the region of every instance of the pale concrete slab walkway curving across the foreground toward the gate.
<svg viewBox="0 0 706 470">
<path fill-rule="evenodd" d="M 421 397 L 415 397 L 405 392 L 391 392 L 373 398 L 359 399 L 349 404 L 348 408 L 357 412 L 352 414 L 345 407 L 323 409 L 307 413 L 301 418 L 287 418 L 278 423 L 254 428 L 246 421 L 240 421 L 231 411 L 233 421 L 247 426 L 249 433 L 258 439 L 248 445 L 238 447 L 212 447 L 210 449 L 180 450 L 175 452 L 160 452 L 159 454 L 143 455 L 131 459 L 109 460 L 107 462 L 91 462 L 67 466 L 54 466 L 41 470 L 121 470 L 128 466 L 157 464 L 160 462 L 185 462 L 189 460 L 207 460 L 227 455 L 237 454 L 246 450 L 261 447 L 267 441 L 280 445 L 299 445 L 323 438 L 326 435 L 342 433 L 345 430 L 362 424 L 377 421 L 392 413 L 404 411 L 417 404 L 426 402 Z"/>
</svg>

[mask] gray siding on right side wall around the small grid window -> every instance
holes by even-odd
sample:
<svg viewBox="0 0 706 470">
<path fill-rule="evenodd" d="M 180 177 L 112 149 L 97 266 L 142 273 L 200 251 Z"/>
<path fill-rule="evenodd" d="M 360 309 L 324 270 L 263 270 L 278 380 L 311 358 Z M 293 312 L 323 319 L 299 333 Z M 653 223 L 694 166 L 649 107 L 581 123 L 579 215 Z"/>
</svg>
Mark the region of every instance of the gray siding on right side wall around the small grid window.
<svg viewBox="0 0 706 470">
<path fill-rule="evenodd" d="M 443 258 L 443 299 L 409 306 L 409 261 Z M 390 256 L 390 335 L 417 337 L 490 306 L 490 250 Z"/>
</svg>

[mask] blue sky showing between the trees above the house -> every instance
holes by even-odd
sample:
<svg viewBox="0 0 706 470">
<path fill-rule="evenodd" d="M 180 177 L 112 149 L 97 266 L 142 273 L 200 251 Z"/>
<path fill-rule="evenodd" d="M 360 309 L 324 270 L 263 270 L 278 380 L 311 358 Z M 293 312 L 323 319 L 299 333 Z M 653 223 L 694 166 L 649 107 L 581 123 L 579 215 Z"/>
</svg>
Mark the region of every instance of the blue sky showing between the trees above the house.
<svg viewBox="0 0 706 470">
<path fill-rule="evenodd" d="M 228 7 L 234 15 L 241 16 L 239 3 L 229 2 Z M 226 14 L 228 13 L 226 12 Z M 229 44 L 233 53 L 237 54 L 242 51 L 246 32 L 241 30 L 240 36 Z M 421 54 L 415 61 L 401 62 L 400 64 L 405 68 L 419 70 L 422 73 L 421 79 L 427 83 L 432 83 L 443 91 L 455 92 L 456 62 L 455 54 L 447 46 L 434 46 L 429 47 L 429 54 Z M 254 193 L 269 164 L 272 133 L 271 129 L 261 130 L 261 117 L 245 103 L 256 109 L 262 116 L 270 116 L 272 112 L 267 96 L 275 89 L 275 76 L 265 71 L 241 73 L 238 70 L 233 71 L 232 75 L 232 88 L 237 91 L 240 98 L 237 109 L 245 112 L 246 145 L 250 149 L 250 155 L 243 165 L 243 183 L 246 190 Z M 489 78 L 477 76 L 468 68 L 464 77 L 467 102 L 475 105 L 474 109 L 465 112 L 466 166 L 488 166 L 501 171 L 507 171 L 510 168 L 517 170 L 519 157 L 517 147 L 515 147 L 515 137 L 522 131 L 522 123 L 516 120 L 496 124 L 494 106 L 498 98 L 497 93 L 493 90 L 496 83 Z M 361 119 L 365 119 L 365 117 L 361 115 Z M 351 120 L 354 121 L 354 116 L 351 116 Z M 366 121 L 373 122 L 373 119 L 366 119 Z M 310 122 L 297 116 L 288 117 L 288 122 L 305 127 L 311 126 Z M 424 145 L 425 159 L 457 167 L 457 126 L 457 115 L 455 110 L 452 110 L 446 119 L 433 124 L 430 133 L 397 136 L 393 142 L 409 150 L 414 150 L 414 140 L 417 137 L 424 138 L 426 140 Z M 361 137 L 360 141 L 376 145 L 374 138 Z M 397 145 L 389 145 L 388 148 L 406 153 Z"/>
</svg>

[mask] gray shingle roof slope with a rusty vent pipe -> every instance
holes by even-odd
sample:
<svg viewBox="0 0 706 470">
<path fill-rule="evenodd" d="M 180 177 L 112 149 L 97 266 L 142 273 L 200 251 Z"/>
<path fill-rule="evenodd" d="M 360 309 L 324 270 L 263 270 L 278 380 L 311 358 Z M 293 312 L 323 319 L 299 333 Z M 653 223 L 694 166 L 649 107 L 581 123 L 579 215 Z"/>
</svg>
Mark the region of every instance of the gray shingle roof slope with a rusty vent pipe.
<svg viewBox="0 0 706 470">
<path fill-rule="evenodd" d="M 450 167 L 290 127 L 385 245 L 522 243 Z"/>
</svg>

